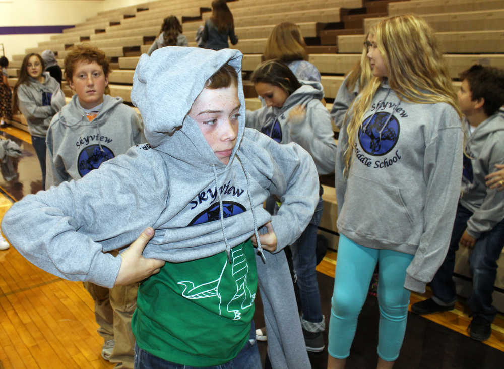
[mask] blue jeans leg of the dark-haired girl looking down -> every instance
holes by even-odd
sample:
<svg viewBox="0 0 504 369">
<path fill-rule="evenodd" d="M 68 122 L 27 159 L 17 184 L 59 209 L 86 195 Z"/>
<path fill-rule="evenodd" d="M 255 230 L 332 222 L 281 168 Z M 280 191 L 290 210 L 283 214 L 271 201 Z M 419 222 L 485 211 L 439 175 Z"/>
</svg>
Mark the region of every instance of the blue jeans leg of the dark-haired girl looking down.
<svg viewBox="0 0 504 369">
<path fill-rule="evenodd" d="M 303 312 L 302 318 L 308 322 L 321 322 L 319 283 L 317 281 L 317 229 L 322 217 L 322 196 L 301 236 L 291 246 L 292 264 L 299 289 L 299 299 Z"/>
</svg>

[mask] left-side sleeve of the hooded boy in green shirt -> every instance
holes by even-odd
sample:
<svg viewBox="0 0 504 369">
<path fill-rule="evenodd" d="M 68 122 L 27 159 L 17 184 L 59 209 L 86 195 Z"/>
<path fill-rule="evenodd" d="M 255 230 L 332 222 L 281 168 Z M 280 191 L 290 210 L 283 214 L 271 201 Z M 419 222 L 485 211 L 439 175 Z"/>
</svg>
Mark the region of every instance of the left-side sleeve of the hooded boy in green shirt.
<svg viewBox="0 0 504 369">
<path fill-rule="evenodd" d="M 82 179 L 25 196 L 5 214 L 4 234 L 21 255 L 49 273 L 112 287 L 121 257 L 103 251 L 129 245 L 165 206 L 156 195 L 166 180 L 139 172 L 139 164 L 147 166 L 149 160 L 134 165 L 132 151 Z"/>
</svg>

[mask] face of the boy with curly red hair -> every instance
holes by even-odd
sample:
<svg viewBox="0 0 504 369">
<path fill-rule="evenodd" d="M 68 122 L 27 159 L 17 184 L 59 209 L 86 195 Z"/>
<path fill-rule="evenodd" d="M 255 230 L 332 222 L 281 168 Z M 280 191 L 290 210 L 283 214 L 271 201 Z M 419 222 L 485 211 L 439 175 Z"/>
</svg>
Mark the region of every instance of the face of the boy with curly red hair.
<svg viewBox="0 0 504 369">
<path fill-rule="evenodd" d="M 79 61 L 72 74 L 69 85 L 77 93 L 79 102 L 84 109 L 91 109 L 103 102 L 103 93 L 107 87 L 108 78 L 103 73 L 103 67 L 96 61 Z"/>
</svg>

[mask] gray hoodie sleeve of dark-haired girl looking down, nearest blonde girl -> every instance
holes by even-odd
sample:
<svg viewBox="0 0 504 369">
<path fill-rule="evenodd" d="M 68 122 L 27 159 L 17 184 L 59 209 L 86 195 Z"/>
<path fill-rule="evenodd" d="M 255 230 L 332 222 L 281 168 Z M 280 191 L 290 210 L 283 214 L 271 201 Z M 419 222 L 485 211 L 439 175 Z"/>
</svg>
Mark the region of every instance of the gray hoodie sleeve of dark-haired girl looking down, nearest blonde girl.
<svg viewBox="0 0 504 369">
<path fill-rule="evenodd" d="M 292 140 L 311 154 L 318 173 L 333 173 L 336 141 L 326 107 L 319 100 L 311 100 L 306 107 L 305 121 L 288 127 Z"/>
</svg>

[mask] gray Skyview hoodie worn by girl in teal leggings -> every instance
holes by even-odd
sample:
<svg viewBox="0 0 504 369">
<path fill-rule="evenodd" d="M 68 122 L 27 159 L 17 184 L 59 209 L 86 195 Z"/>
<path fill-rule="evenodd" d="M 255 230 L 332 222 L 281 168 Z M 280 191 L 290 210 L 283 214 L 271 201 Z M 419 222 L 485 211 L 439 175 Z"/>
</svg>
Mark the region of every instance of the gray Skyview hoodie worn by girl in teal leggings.
<svg viewBox="0 0 504 369">
<path fill-rule="evenodd" d="M 446 103 L 401 101 L 384 82 L 357 135 L 346 178 L 346 125 L 340 131 L 338 229 L 365 247 L 414 255 L 404 287 L 422 293 L 450 243 L 462 176 L 460 118 Z"/>
</svg>

